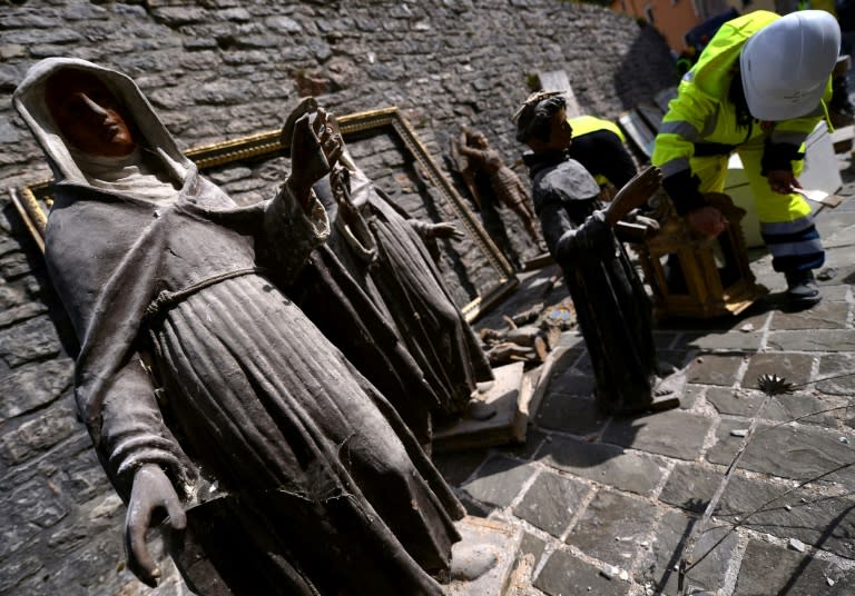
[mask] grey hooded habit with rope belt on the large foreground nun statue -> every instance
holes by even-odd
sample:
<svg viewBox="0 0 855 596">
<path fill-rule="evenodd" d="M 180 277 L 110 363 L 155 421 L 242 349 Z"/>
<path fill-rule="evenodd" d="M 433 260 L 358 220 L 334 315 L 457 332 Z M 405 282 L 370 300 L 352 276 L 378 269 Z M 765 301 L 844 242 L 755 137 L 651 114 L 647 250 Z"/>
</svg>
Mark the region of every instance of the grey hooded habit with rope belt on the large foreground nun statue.
<svg viewBox="0 0 855 596">
<path fill-rule="evenodd" d="M 120 99 L 139 156 L 110 166 L 66 146 L 45 103 L 62 68 Z M 129 78 L 89 62 L 38 63 L 14 102 L 57 180 L 46 258 L 81 345 L 80 416 L 126 500 L 140 466 L 166 470 L 187 510 L 173 556 L 190 587 L 441 594 L 429 573 L 449 566 L 460 504 L 389 401 L 265 274 L 294 278 L 324 241 L 316 199 L 304 211 L 283 185 L 236 207 Z"/>
</svg>

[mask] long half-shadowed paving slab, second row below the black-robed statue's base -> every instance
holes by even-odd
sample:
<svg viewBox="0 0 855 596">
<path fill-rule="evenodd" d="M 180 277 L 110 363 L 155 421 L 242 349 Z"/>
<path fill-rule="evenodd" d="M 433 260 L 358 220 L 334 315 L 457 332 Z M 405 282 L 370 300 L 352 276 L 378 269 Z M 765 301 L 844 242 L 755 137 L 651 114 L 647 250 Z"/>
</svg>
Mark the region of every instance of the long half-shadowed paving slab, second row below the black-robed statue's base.
<svg viewBox="0 0 855 596">
<path fill-rule="evenodd" d="M 538 459 L 569 471 L 638 495 L 650 495 L 665 470 L 650 457 L 627 453 L 615 445 L 553 437 L 538 453 Z"/>
</svg>

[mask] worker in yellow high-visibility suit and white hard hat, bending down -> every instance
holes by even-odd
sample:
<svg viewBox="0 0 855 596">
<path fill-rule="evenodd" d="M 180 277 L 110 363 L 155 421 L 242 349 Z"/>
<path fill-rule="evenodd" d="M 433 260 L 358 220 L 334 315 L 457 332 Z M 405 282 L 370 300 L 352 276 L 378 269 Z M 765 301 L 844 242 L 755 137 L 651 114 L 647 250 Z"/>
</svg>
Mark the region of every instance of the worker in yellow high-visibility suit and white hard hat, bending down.
<svg viewBox="0 0 855 596">
<path fill-rule="evenodd" d="M 684 76 L 651 158 L 677 211 L 715 236 L 727 224 L 702 193 L 724 189 L 728 156 L 739 153 L 773 268 L 786 276 L 794 307 L 822 299 L 813 269 L 825 252 L 810 207 L 794 190 L 805 139 L 827 120 L 839 44 L 837 21 L 822 10 L 758 10 L 726 22 Z"/>
</svg>

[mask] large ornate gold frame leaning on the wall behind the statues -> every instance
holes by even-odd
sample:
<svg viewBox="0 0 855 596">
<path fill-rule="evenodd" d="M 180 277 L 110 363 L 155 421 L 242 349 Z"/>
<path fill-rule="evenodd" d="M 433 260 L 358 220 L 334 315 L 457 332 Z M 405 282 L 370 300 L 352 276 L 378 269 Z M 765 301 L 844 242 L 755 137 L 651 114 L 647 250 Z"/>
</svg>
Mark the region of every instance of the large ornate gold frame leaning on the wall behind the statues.
<svg viewBox="0 0 855 596">
<path fill-rule="evenodd" d="M 485 312 L 500 298 L 519 284 L 513 268 L 499 251 L 492 239 L 466 206 L 449 179 L 425 149 L 410 122 L 397 108 L 384 108 L 337 117 L 345 141 L 356 133 L 385 132 L 393 135 L 409 151 L 414 162 L 421 166 L 426 182 L 436 189 L 442 199 L 451 207 L 465 228 L 464 232 L 478 247 L 487 265 L 495 270 L 495 285 L 481 291 L 473 300 L 462 307 L 466 320 L 472 321 Z M 279 130 L 271 130 L 230 141 L 207 145 L 186 152 L 199 170 L 227 165 L 245 159 L 256 159 L 282 155 L 286 147 L 279 140 Z M 50 210 L 50 180 L 28 185 L 21 189 L 10 189 L 12 202 L 30 230 L 39 248 L 45 250 L 45 226 Z"/>
</svg>

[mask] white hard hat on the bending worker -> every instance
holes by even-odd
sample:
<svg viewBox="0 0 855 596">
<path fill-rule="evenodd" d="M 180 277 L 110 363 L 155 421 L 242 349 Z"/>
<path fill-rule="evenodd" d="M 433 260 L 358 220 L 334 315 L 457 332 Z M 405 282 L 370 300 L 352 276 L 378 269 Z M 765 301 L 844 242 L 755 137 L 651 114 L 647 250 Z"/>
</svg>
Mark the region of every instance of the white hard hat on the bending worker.
<svg viewBox="0 0 855 596">
<path fill-rule="evenodd" d="M 757 31 L 739 54 L 748 111 L 787 120 L 816 109 L 839 49 L 837 19 L 824 10 L 790 12 Z"/>
</svg>

